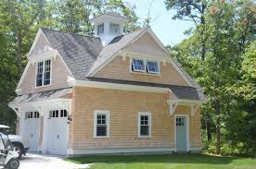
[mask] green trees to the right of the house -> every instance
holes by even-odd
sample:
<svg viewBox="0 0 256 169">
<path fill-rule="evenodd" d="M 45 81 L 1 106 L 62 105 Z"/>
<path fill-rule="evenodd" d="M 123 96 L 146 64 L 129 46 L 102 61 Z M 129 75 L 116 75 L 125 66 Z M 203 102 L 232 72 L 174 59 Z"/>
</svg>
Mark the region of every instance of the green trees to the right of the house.
<svg viewBox="0 0 256 169">
<path fill-rule="evenodd" d="M 187 17 L 185 10 L 191 11 L 189 15 L 195 11 L 189 6 L 201 3 L 166 2 L 167 7 L 176 8 L 180 18 Z M 204 23 L 196 25 L 190 38 L 169 49 L 208 97 L 202 106 L 202 127 L 205 129 L 210 120 L 213 132 L 212 140 L 204 139 L 208 151 L 219 153 L 221 145 L 222 154 L 255 155 L 255 4 L 250 0 L 203 3 L 207 6 Z M 201 27 L 204 33 L 200 33 Z M 206 49 L 203 59 L 199 56 L 202 39 Z"/>
</svg>

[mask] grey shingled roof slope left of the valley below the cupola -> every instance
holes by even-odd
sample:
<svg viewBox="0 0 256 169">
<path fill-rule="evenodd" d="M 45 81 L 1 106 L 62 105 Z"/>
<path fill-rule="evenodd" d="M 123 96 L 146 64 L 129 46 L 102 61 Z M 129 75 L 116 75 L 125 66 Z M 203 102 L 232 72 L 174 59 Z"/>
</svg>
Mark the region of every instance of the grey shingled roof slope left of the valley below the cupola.
<svg viewBox="0 0 256 169">
<path fill-rule="evenodd" d="M 86 77 L 103 49 L 100 39 L 58 30 L 42 30 L 51 47 L 58 50 L 70 68 L 72 76 L 78 79 Z"/>
</svg>

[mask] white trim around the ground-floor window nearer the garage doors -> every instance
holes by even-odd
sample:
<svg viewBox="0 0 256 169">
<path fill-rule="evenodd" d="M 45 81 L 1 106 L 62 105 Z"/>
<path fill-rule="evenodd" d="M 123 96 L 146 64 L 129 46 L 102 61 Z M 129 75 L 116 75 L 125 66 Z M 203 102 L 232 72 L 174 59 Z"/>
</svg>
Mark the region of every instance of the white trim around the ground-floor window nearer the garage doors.
<svg viewBox="0 0 256 169">
<path fill-rule="evenodd" d="M 107 136 L 96 136 L 96 117 L 97 115 L 100 114 L 100 115 L 106 115 L 106 123 L 107 123 Z M 106 111 L 106 110 L 95 110 L 94 112 L 94 138 L 109 138 L 109 118 L 110 118 L 110 115 L 109 115 L 109 111 Z"/>
</svg>

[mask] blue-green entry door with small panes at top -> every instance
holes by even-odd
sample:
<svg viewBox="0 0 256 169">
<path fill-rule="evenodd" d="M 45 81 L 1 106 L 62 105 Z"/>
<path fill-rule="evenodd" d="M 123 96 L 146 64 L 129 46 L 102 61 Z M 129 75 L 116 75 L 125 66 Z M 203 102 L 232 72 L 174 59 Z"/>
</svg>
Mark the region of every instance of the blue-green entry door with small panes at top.
<svg viewBox="0 0 256 169">
<path fill-rule="evenodd" d="M 186 151 L 186 117 L 176 116 L 176 151 Z"/>
</svg>

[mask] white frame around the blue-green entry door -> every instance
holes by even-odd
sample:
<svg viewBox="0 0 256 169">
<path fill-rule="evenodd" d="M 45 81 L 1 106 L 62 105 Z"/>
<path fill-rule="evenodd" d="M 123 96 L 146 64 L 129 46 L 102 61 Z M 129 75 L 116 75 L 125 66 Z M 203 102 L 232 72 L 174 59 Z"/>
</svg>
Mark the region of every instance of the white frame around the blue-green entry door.
<svg viewBox="0 0 256 169">
<path fill-rule="evenodd" d="M 186 117 L 186 151 L 190 151 L 189 146 L 189 115 L 174 115 L 174 141 L 175 141 L 175 152 L 177 152 L 177 142 L 176 142 L 176 118 L 177 116 Z"/>
</svg>

